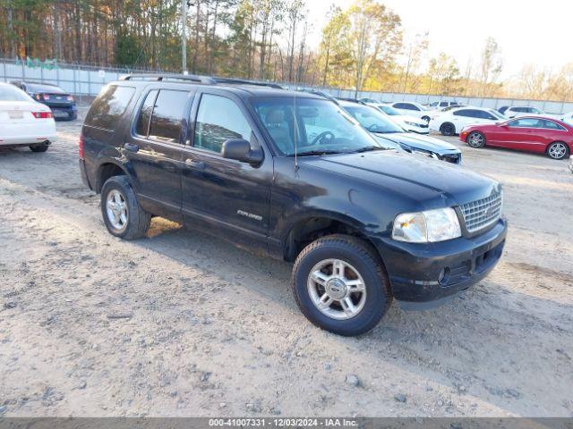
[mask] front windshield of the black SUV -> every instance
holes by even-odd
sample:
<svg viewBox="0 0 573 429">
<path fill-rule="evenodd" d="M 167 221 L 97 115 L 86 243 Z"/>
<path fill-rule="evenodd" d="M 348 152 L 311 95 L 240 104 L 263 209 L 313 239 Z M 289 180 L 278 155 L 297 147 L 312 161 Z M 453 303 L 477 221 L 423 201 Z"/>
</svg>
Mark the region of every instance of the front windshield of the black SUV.
<svg viewBox="0 0 573 429">
<path fill-rule="evenodd" d="M 382 149 L 340 106 L 305 97 L 255 98 L 254 110 L 284 155 L 348 153 Z"/>
</svg>

